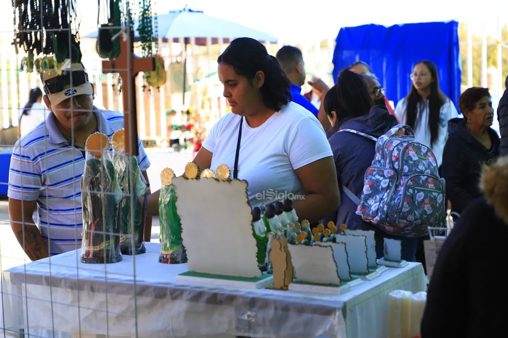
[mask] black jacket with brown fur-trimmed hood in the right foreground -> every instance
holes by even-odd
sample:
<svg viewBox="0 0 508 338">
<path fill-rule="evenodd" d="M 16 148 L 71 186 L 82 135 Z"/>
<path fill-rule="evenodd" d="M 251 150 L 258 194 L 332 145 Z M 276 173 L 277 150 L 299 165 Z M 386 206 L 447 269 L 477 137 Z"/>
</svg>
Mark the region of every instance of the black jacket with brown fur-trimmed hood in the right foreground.
<svg viewBox="0 0 508 338">
<path fill-rule="evenodd" d="M 483 197 L 464 210 L 444 241 L 427 289 L 422 338 L 504 337 L 508 317 L 508 156 L 484 168 Z"/>
</svg>

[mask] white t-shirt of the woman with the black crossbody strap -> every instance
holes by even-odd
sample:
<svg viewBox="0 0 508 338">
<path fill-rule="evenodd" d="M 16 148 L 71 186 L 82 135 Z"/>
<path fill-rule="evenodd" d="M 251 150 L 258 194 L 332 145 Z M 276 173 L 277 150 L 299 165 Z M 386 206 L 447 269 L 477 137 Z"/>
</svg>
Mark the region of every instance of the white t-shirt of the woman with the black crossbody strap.
<svg viewBox="0 0 508 338">
<path fill-rule="evenodd" d="M 203 142 L 203 147 L 213 153 L 211 170 L 226 164 L 233 173 L 240 119 L 233 113 L 224 115 Z M 320 122 L 290 102 L 259 127 L 251 128 L 243 120 L 238 179 L 248 182 L 252 208 L 277 199 L 298 199 L 305 191 L 295 170 L 328 156 L 332 150 Z"/>
</svg>

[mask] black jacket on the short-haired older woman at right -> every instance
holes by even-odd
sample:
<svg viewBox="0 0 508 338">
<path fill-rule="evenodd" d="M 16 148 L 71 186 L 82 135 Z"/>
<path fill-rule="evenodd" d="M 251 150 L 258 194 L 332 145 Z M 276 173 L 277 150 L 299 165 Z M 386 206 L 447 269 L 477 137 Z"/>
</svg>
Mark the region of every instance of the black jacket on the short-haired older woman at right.
<svg viewBox="0 0 508 338">
<path fill-rule="evenodd" d="M 499 156 L 499 136 L 494 129 L 488 129 L 492 141 L 489 151 L 466 130 L 464 123 L 463 118 L 448 121 L 441 167 L 447 199 L 452 203 L 452 211 L 459 214 L 482 195 L 479 187 L 482 165 L 491 164 Z"/>
</svg>

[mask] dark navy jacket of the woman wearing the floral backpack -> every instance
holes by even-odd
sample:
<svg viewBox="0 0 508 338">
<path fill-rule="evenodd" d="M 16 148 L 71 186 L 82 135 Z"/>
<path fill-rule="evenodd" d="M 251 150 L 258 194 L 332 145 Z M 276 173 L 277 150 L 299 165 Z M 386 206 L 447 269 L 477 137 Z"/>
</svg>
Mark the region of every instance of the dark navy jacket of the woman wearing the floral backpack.
<svg viewBox="0 0 508 338">
<path fill-rule="evenodd" d="M 386 109 L 372 107 L 368 115 L 347 120 L 338 129 L 354 129 L 378 138 L 396 124 L 397 119 Z M 326 222 L 331 220 L 337 227 L 345 223 L 348 229 L 375 230 L 376 234 L 382 234 L 381 230 L 365 222 L 355 213 L 357 205 L 341 187 L 342 184 L 345 185 L 360 198 L 365 171 L 374 158 L 375 142 L 351 132 L 336 132 L 328 139 L 328 142 L 332 148 L 337 170 L 340 204 L 334 214 L 321 222 L 326 225 Z"/>
</svg>

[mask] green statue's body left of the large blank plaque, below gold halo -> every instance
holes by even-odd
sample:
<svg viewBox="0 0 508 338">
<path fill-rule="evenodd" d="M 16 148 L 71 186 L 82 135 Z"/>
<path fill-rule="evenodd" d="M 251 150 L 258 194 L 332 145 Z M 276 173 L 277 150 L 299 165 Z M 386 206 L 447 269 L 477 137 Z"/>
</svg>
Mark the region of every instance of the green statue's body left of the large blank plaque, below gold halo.
<svg viewBox="0 0 508 338">
<path fill-rule="evenodd" d="M 161 186 L 159 195 L 159 220 L 161 254 L 159 262 L 179 264 L 187 262 L 187 254 L 182 243 L 182 224 L 176 210 L 175 188 Z"/>
</svg>

